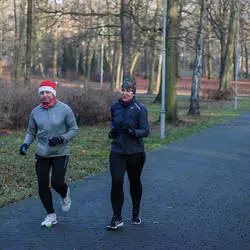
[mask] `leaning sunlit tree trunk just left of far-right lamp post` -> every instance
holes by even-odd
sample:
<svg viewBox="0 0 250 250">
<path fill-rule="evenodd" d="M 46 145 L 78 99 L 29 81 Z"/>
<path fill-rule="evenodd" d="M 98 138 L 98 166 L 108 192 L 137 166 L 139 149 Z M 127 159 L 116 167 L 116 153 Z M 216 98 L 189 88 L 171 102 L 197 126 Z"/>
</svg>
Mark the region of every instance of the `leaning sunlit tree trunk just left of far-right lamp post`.
<svg viewBox="0 0 250 250">
<path fill-rule="evenodd" d="M 220 79 L 220 90 L 222 91 L 231 88 L 233 56 L 234 56 L 235 38 L 236 38 L 236 24 L 237 24 L 237 6 L 236 3 L 232 0 L 230 22 L 228 28 L 229 30 L 228 41 L 224 59 L 224 70 Z"/>
</svg>

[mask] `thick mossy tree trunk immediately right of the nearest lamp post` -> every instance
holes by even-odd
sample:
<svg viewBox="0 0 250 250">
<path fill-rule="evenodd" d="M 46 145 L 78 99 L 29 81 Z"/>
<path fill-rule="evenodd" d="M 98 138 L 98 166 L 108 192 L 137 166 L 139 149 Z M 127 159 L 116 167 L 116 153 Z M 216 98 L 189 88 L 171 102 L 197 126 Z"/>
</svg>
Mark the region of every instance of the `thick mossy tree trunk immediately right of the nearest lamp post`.
<svg viewBox="0 0 250 250">
<path fill-rule="evenodd" d="M 168 25 L 166 46 L 166 120 L 173 122 L 177 120 L 177 53 L 178 45 L 176 36 L 178 34 L 178 1 L 168 0 Z"/>
</svg>

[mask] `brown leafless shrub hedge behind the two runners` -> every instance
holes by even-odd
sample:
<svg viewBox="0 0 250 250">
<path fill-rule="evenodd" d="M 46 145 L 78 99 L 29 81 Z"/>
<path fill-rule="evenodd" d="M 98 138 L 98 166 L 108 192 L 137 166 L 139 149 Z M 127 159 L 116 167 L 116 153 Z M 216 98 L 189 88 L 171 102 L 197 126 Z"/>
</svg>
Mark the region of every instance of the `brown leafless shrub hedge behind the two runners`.
<svg viewBox="0 0 250 250">
<path fill-rule="evenodd" d="M 28 125 L 31 110 L 39 105 L 39 85 L 2 86 L 0 129 L 21 129 Z M 109 120 L 109 108 L 115 96 L 111 91 L 85 91 L 81 88 L 58 86 L 57 97 L 75 113 L 78 125 L 93 125 Z"/>
</svg>

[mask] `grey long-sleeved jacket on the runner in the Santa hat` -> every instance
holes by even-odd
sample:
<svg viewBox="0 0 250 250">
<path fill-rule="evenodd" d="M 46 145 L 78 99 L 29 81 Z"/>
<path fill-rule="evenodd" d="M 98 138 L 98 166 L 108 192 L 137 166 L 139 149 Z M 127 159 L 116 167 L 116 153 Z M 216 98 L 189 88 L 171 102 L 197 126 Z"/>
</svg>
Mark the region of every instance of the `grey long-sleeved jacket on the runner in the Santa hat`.
<svg viewBox="0 0 250 250">
<path fill-rule="evenodd" d="M 36 154 L 41 157 L 69 155 L 69 142 L 77 136 L 78 126 L 71 108 L 60 101 L 45 109 L 42 105 L 30 114 L 29 126 L 24 143 L 29 146 L 37 137 Z M 50 147 L 49 139 L 60 136 L 63 144 Z"/>
</svg>

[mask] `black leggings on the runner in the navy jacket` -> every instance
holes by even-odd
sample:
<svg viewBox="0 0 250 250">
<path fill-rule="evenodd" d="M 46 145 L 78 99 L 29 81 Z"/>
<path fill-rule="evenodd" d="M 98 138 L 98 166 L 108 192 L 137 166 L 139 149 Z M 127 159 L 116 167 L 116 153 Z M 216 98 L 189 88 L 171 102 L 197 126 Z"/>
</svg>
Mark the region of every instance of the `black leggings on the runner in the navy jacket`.
<svg viewBox="0 0 250 250">
<path fill-rule="evenodd" d="M 145 153 L 122 155 L 115 152 L 110 153 L 110 172 L 112 177 L 111 203 L 114 216 L 121 216 L 124 201 L 123 183 L 127 170 L 130 182 L 130 195 L 133 204 L 133 215 L 140 212 L 142 197 L 141 173 L 145 162 Z"/>
</svg>

